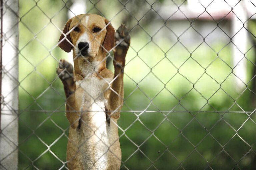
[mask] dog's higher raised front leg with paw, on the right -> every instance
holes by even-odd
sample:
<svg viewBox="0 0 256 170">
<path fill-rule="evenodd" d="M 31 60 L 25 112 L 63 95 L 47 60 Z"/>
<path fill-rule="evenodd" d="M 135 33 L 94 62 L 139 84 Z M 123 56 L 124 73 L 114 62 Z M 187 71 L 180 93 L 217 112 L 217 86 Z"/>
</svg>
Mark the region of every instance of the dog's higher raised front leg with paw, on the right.
<svg viewBox="0 0 256 170">
<path fill-rule="evenodd" d="M 120 110 L 123 106 L 124 98 L 124 66 L 125 56 L 130 46 L 130 35 L 127 27 L 122 24 L 115 33 L 115 44 L 117 45 L 114 51 L 114 81 L 111 85 L 111 92 L 109 96 L 109 115 L 118 119 L 120 117 Z"/>
</svg>

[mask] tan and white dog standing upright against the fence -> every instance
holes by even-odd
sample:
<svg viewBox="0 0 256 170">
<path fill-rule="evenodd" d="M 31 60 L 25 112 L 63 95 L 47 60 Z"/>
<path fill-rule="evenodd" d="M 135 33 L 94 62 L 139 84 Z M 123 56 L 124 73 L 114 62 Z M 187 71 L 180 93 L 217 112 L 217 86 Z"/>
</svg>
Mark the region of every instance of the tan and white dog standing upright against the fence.
<svg viewBox="0 0 256 170">
<path fill-rule="evenodd" d="M 71 127 L 67 146 L 71 170 L 120 169 L 117 120 L 123 105 L 123 69 L 129 44 L 125 25 L 115 33 L 109 21 L 96 14 L 71 18 L 60 36 L 58 46 L 66 52 L 73 49 L 74 60 L 74 68 L 64 59 L 57 68 Z M 114 74 L 106 68 L 106 53 L 112 48 Z"/>
</svg>

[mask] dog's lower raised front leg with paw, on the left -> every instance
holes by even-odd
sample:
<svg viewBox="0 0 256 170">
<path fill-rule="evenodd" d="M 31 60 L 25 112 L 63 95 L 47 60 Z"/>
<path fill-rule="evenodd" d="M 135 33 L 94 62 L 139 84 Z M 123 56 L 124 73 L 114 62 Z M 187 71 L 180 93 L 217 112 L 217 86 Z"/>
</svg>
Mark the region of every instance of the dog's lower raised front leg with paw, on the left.
<svg viewBox="0 0 256 170">
<path fill-rule="evenodd" d="M 64 59 L 59 61 L 59 67 L 57 68 L 57 74 L 64 85 L 64 91 L 66 95 L 66 117 L 72 128 L 79 126 L 80 108 L 79 100 L 76 100 L 76 80 L 74 78 L 74 68 L 72 64 Z"/>
</svg>

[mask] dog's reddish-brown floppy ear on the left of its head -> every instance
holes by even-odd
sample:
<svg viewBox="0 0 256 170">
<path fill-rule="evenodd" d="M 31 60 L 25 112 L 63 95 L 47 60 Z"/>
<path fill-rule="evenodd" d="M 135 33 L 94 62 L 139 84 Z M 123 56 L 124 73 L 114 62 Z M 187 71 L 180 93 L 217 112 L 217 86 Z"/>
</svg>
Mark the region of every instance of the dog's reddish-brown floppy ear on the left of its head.
<svg viewBox="0 0 256 170">
<path fill-rule="evenodd" d="M 68 22 L 66 23 L 66 25 L 65 25 L 65 27 L 64 27 L 64 29 L 62 31 L 63 33 L 60 35 L 59 42 L 62 41 L 65 38 L 65 36 L 63 34 L 67 34 L 68 33 L 70 23 L 71 23 L 71 19 L 69 19 Z M 59 43 L 58 46 L 61 49 L 63 49 L 64 51 L 70 52 L 71 49 L 72 49 L 72 45 L 70 44 L 70 42 L 67 41 L 67 39 L 71 42 L 69 34 L 67 35 L 67 38 L 65 40 L 63 40 L 61 43 Z"/>
</svg>

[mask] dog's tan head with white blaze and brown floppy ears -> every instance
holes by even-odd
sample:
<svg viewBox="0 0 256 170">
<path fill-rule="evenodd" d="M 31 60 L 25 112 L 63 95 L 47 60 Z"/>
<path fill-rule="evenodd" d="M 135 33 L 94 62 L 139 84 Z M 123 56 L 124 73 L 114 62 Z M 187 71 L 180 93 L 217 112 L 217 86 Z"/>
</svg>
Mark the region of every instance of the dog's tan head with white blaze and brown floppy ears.
<svg viewBox="0 0 256 170">
<path fill-rule="evenodd" d="M 115 30 L 109 21 L 96 14 L 81 14 L 68 20 L 59 47 L 73 56 L 91 59 L 114 47 Z"/>
</svg>

